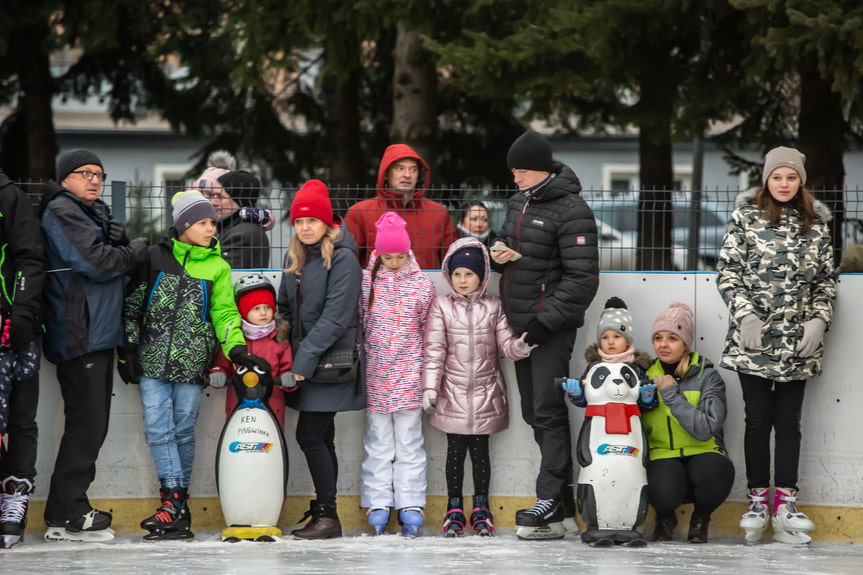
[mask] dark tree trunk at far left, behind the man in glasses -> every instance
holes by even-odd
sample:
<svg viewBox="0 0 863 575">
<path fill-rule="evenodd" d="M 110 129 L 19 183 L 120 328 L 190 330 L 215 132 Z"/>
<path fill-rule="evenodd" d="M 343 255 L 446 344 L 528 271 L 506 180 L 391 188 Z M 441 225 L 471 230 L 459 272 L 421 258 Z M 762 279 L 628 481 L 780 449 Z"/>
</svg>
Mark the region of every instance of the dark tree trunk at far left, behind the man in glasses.
<svg viewBox="0 0 863 575">
<path fill-rule="evenodd" d="M 20 117 L 17 121 L 24 141 L 6 142 L 26 150 L 23 165 L 10 166 L 10 173 L 18 178 L 47 180 L 54 177 L 54 157 L 57 152 L 54 116 L 51 100 L 54 84 L 48 54 L 43 46 L 49 37 L 46 24 L 39 23 L 16 29 L 10 39 L 18 70 L 18 97 Z"/>
</svg>

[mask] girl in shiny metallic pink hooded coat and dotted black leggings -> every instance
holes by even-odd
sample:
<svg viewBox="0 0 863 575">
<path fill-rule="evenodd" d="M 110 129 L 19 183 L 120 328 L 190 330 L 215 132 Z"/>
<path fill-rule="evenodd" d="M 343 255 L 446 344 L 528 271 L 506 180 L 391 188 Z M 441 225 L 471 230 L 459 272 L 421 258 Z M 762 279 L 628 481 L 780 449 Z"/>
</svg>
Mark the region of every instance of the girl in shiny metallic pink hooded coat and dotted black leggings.
<svg viewBox="0 0 863 575">
<path fill-rule="evenodd" d="M 499 355 L 518 360 L 531 350 L 506 321 L 500 298 L 486 293 L 488 259 L 476 238 L 455 241 L 441 269 L 451 291 L 438 296 L 426 321 L 423 407 L 431 412 L 429 424 L 447 434 L 449 502 L 443 531 L 448 537 L 463 534 L 467 523 L 462 484 L 468 450 L 474 484 L 471 530 L 478 535 L 494 532 L 488 506 L 488 436 L 509 425 Z"/>
</svg>

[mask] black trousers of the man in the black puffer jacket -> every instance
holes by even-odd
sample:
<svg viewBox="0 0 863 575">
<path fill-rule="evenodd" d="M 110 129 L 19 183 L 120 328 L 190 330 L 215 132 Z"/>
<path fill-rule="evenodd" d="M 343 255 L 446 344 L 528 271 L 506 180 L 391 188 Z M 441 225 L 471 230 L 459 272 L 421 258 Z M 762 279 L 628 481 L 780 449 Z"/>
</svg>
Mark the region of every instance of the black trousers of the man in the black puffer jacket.
<svg viewBox="0 0 863 575">
<path fill-rule="evenodd" d="M 554 378 L 567 377 L 577 330 L 552 334 L 530 357 L 515 362 L 521 416 L 533 428 L 539 446 L 538 499 L 569 497 L 572 481 L 572 435 L 565 392 Z"/>
</svg>

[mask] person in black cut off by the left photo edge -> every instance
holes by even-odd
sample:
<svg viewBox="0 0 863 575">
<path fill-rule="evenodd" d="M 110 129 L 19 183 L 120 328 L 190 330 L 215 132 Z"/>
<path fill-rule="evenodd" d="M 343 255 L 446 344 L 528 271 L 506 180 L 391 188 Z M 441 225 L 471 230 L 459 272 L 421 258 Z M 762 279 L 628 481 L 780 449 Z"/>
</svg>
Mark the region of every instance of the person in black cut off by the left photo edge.
<svg viewBox="0 0 863 575">
<path fill-rule="evenodd" d="M 36 480 L 39 334 L 45 258 L 33 204 L 0 172 L 0 547 L 21 541 Z M 5 405 L 4 405 L 5 403 Z M 8 411 L 7 411 L 8 409 Z"/>
</svg>

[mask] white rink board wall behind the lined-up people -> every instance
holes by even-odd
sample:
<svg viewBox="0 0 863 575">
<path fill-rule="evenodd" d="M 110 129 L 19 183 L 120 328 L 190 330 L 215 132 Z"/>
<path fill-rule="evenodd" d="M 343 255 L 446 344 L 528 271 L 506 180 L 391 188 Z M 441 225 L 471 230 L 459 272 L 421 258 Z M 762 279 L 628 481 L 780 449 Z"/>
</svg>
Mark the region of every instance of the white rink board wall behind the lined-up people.
<svg viewBox="0 0 863 575">
<path fill-rule="evenodd" d="M 236 272 L 235 272 L 236 273 Z M 240 275 L 240 274 L 237 274 Z M 276 282 L 279 272 L 269 274 Z M 429 272 L 438 290 L 445 288 L 439 272 Z M 498 274 L 493 274 L 491 291 L 496 292 Z M 581 375 L 585 367 L 584 348 L 596 341 L 595 326 L 605 300 L 618 296 L 626 301 L 635 322 L 636 346 L 651 356 L 650 326 L 656 315 L 672 301 L 683 301 L 696 312 L 696 349 L 719 363 L 727 330 L 728 312 L 716 291 L 713 273 L 604 272 L 599 293 L 591 305 L 585 328 L 579 330 L 570 374 Z M 863 308 L 856 299 L 863 293 L 863 276 L 841 277 L 836 319 L 827 334 L 825 375 L 807 385 L 803 414 L 803 448 L 800 466 L 800 488 L 807 501 L 816 505 L 863 506 L 863 469 L 861 447 L 853 438 L 859 417 L 855 407 L 863 404 L 863 386 L 857 384 Z M 532 496 L 538 469 L 539 451 L 530 429 L 521 420 L 518 390 L 511 362 L 504 360 L 510 382 L 510 428 L 495 435 L 492 447 L 492 495 Z M 561 374 L 565 375 L 565 374 Z M 730 500 L 745 499 L 746 481 L 743 464 L 743 402 L 735 374 L 723 371 L 728 385 L 729 416 L 725 425 L 726 443 L 737 470 Z M 114 387 L 111 427 L 98 461 L 96 481 L 89 490 L 93 498 L 152 497 L 158 488 L 149 448 L 144 440 L 141 404 L 135 386 L 126 386 L 117 377 Z M 63 410 L 56 370 L 43 362 L 39 405 L 40 452 L 36 499 L 45 499 L 57 445 L 63 426 Z M 215 454 L 225 419 L 224 390 L 207 389 L 197 426 L 197 455 L 192 476 L 196 496 L 216 496 Z M 564 401 L 563 399 L 561 399 Z M 573 443 L 581 426 L 583 410 L 570 407 Z M 305 459 L 297 447 L 292 430 L 296 412 L 288 409 L 285 425 L 290 457 L 288 493 L 313 494 Z M 336 418 L 336 449 L 339 454 L 339 493 L 359 495 L 362 437 L 365 429 L 362 412 L 343 413 Z M 429 455 L 429 495 L 444 495 L 444 460 L 446 437 L 426 427 L 426 450 Z M 466 474 L 465 492 L 471 493 L 470 473 Z"/>
</svg>

